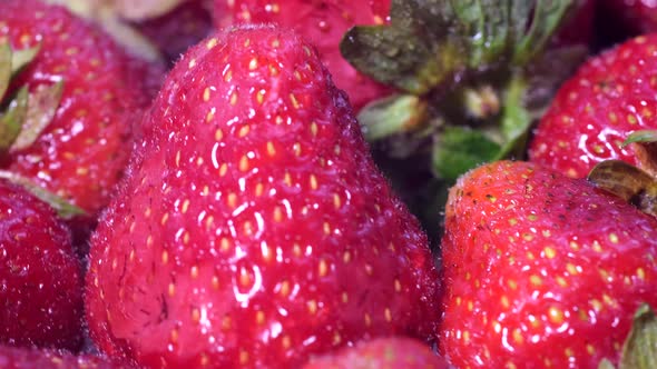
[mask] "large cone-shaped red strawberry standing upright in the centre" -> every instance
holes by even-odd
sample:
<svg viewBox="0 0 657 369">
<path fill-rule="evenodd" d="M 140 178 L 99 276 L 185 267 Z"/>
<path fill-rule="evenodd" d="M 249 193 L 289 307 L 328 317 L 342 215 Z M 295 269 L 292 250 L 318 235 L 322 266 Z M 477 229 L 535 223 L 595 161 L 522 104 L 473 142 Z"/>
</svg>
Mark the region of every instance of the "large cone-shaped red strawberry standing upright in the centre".
<svg viewBox="0 0 657 369">
<path fill-rule="evenodd" d="M 346 97 L 290 30 L 234 28 L 176 64 L 92 237 L 91 337 L 145 366 L 301 365 L 433 336 L 426 237 Z"/>
</svg>

